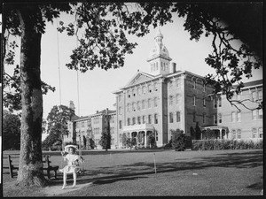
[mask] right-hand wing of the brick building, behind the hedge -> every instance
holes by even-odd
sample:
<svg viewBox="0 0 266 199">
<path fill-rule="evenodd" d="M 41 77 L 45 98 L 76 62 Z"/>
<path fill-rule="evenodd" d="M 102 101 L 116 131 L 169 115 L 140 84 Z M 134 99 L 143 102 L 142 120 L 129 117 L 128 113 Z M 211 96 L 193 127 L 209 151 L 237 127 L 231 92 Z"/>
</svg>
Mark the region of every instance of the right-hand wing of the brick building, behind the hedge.
<svg viewBox="0 0 266 199">
<path fill-rule="evenodd" d="M 217 107 L 218 125 L 227 126 L 231 139 L 262 138 L 262 109 L 257 110 L 258 102 L 262 102 L 262 80 L 254 80 L 244 84 L 241 93 L 232 100 L 243 101 L 243 105 L 229 103 L 221 96 Z"/>
</svg>

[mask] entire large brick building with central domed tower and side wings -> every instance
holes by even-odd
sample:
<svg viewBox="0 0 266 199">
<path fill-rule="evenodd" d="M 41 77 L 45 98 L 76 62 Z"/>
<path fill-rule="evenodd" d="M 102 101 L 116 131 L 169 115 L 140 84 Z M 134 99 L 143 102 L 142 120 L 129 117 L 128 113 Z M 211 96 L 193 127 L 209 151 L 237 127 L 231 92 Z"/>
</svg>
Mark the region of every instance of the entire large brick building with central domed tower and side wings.
<svg viewBox="0 0 266 199">
<path fill-rule="evenodd" d="M 239 110 L 224 96 L 212 96 L 212 88 L 205 84 L 204 77 L 180 70 L 170 62 L 167 48 L 162 42 L 160 30 L 154 37 L 154 47 L 147 58 L 150 73 L 137 73 L 119 90 L 116 96 L 116 111 L 99 111 L 96 114 L 73 119 L 69 130 L 93 138 L 98 145 L 101 132 L 110 121 L 112 148 L 122 146 L 122 134 L 127 137 L 142 136 L 143 145 L 147 136 L 155 135 L 156 145 L 163 146 L 171 139 L 171 130 L 179 128 L 193 139 L 196 126 L 201 132 L 207 128 L 218 139 L 262 138 L 262 110 L 250 111 L 244 106 Z M 262 100 L 262 80 L 246 83 L 236 99 L 246 100 L 247 107 L 254 108 L 255 100 Z M 68 141 L 68 135 L 65 142 Z M 68 140 L 67 140 L 68 139 Z"/>
</svg>

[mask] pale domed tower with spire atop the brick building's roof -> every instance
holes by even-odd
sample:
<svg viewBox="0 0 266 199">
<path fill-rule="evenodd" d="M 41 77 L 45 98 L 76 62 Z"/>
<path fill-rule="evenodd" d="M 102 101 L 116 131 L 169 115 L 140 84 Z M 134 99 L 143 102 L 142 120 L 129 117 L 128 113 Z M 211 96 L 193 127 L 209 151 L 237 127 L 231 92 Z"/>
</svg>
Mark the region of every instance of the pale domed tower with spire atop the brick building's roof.
<svg viewBox="0 0 266 199">
<path fill-rule="evenodd" d="M 154 37 L 155 44 L 153 49 L 150 51 L 149 57 L 147 58 L 147 62 L 150 64 L 151 74 L 155 76 L 168 74 L 170 61 L 172 60 L 169 57 L 168 50 L 163 44 L 162 39 L 163 35 L 160 33 L 160 29 L 158 27 Z"/>
</svg>

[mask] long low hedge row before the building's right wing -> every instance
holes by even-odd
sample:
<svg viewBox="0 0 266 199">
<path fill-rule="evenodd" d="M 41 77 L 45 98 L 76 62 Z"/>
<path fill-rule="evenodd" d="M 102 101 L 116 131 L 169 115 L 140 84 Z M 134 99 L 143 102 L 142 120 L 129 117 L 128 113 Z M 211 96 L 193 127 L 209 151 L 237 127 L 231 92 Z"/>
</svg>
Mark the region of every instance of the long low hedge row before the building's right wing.
<svg viewBox="0 0 266 199">
<path fill-rule="evenodd" d="M 263 141 L 243 140 L 193 140 L 192 150 L 262 149 Z"/>
</svg>

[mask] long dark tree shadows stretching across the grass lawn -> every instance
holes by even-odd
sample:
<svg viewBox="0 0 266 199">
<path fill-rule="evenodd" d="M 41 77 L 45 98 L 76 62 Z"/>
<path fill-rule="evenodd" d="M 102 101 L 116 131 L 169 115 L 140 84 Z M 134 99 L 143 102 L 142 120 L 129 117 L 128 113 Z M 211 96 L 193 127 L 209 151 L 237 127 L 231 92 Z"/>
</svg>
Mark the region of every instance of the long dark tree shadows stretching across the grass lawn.
<svg viewBox="0 0 266 199">
<path fill-rule="evenodd" d="M 205 169 L 208 167 L 229 167 L 229 168 L 254 168 L 263 165 L 262 151 L 251 151 L 247 153 L 220 154 L 215 157 L 200 157 L 187 161 L 171 163 L 156 163 L 157 173 L 168 173 L 178 171 L 192 171 Z M 140 178 L 150 178 L 154 175 L 154 164 L 139 162 L 132 165 L 116 165 L 113 167 L 98 167 L 97 169 L 87 170 L 85 174 L 77 179 L 77 183 L 83 184 L 93 181 L 93 184 L 111 184 L 121 180 L 136 180 Z M 98 176 L 102 175 L 102 176 Z M 67 177 L 68 179 L 68 177 Z M 71 177 L 69 178 L 71 179 Z M 51 180 L 51 185 L 62 184 L 62 176 L 58 180 Z M 255 183 L 247 188 L 260 189 L 262 183 Z"/>
</svg>

